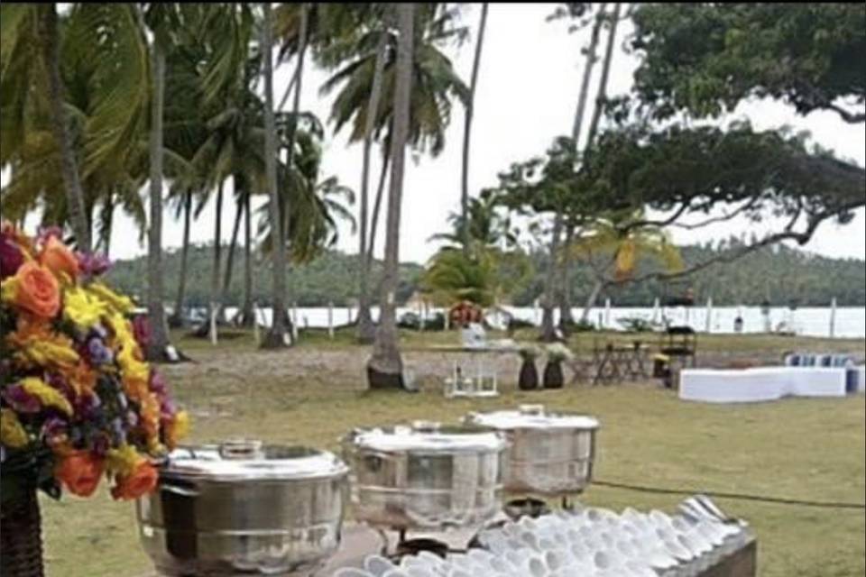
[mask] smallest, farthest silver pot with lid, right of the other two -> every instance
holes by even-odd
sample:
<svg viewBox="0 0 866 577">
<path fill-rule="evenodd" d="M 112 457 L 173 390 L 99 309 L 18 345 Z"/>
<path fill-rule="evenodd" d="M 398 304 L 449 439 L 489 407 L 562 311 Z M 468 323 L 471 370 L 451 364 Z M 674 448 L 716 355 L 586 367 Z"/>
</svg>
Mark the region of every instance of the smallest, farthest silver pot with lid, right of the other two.
<svg viewBox="0 0 866 577">
<path fill-rule="evenodd" d="M 584 490 L 592 480 L 599 427 L 593 417 L 521 405 L 516 411 L 470 413 L 464 420 L 508 438 L 504 484 L 509 493 L 567 495 Z"/>
</svg>

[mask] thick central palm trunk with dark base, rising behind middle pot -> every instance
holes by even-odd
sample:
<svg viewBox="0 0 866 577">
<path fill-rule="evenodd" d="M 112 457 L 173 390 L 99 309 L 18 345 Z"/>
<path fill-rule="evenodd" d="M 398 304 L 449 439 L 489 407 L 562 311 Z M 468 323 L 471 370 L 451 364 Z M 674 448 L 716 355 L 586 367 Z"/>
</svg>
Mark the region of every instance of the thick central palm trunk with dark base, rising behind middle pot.
<svg viewBox="0 0 866 577">
<path fill-rule="evenodd" d="M 403 386 L 403 361 L 397 347 L 396 303 L 400 266 L 400 213 L 406 140 L 409 136 L 412 85 L 412 44 L 414 43 L 415 5 L 395 5 L 400 41 L 394 87 L 394 125 L 391 142 L 391 186 L 388 195 L 388 221 L 385 234 L 385 267 L 382 279 L 382 304 L 373 356 L 367 362 L 371 388 Z"/>
</svg>

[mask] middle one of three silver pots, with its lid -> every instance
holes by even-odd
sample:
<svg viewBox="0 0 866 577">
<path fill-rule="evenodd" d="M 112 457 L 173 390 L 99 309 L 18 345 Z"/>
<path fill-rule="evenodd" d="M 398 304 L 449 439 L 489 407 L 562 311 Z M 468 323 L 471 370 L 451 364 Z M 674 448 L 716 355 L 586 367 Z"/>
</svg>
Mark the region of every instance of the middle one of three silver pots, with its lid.
<svg viewBox="0 0 866 577">
<path fill-rule="evenodd" d="M 355 515 L 375 527 L 475 527 L 501 509 L 502 435 L 419 424 L 344 439 Z"/>
</svg>

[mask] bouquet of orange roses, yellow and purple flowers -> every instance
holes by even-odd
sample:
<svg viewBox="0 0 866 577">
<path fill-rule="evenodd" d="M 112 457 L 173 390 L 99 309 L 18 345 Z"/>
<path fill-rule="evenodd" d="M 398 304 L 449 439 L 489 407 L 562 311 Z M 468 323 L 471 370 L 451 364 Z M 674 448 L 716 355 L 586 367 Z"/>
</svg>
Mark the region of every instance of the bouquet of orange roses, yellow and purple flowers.
<svg viewBox="0 0 866 577">
<path fill-rule="evenodd" d="M 98 280 L 107 268 L 69 250 L 58 229 L 0 229 L 4 501 L 30 486 L 88 497 L 103 478 L 115 499 L 136 499 L 186 434 L 187 413 L 143 361 L 132 301 Z"/>
</svg>

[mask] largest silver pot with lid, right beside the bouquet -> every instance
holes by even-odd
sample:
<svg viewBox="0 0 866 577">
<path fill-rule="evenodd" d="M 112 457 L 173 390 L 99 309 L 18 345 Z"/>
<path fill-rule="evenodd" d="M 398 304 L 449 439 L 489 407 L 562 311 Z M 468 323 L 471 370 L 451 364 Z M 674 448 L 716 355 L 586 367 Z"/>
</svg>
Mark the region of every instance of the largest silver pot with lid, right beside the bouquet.
<svg viewBox="0 0 866 577">
<path fill-rule="evenodd" d="M 305 447 L 179 448 L 137 501 L 143 547 L 167 575 L 311 570 L 340 543 L 347 476 L 335 455 Z"/>
</svg>

